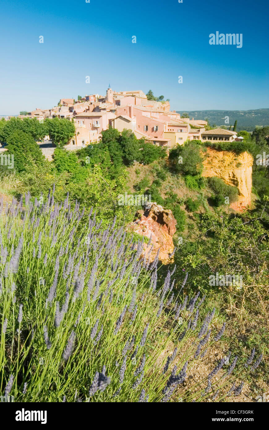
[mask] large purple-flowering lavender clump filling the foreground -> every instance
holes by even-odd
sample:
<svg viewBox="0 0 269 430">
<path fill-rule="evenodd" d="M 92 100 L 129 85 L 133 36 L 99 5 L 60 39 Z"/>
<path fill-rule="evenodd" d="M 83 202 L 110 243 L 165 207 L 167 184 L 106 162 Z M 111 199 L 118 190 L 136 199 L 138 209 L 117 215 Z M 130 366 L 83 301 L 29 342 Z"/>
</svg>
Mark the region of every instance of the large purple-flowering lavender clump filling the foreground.
<svg viewBox="0 0 269 430">
<path fill-rule="evenodd" d="M 199 294 L 179 306 L 171 273 L 163 282 L 157 260 L 143 267 L 143 242 L 129 241 L 116 219 L 102 230 L 95 214 L 87 224 L 82 217 L 68 198 L 59 206 L 49 195 L 40 206 L 26 195 L 24 207 L 13 202 L 0 218 L 0 394 L 17 402 L 168 402 L 177 388 L 184 402 L 200 402 L 218 399 L 220 381 L 225 397 L 240 365 L 231 377 L 223 360 L 208 387 L 183 385 L 223 334 L 224 326 L 208 331 L 214 310 L 199 316 Z"/>
</svg>

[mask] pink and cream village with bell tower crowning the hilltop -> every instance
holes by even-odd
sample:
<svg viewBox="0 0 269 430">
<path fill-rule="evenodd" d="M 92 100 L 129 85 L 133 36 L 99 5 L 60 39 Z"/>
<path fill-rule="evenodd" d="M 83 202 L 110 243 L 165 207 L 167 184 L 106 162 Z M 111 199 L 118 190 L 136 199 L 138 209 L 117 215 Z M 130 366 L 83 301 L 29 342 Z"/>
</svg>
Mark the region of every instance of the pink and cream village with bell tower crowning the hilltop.
<svg viewBox="0 0 269 430">
<path fill-rule="evenodd" d="M 137 138 L 156 146 L 173 148 L 186 140 L 234 141 L 237 133 L 225 129 L 207 130 L 207 121 L 180 118 L 170 111 L 169 101 L 148 100 L 143 91 L 116 92 L 107 89 L 106 96 L 85 95 L 79 100 L 62 98 L 57 107 L 39 109 L 19 118 L 66 118 L 73 121 L 76 132 L 67 149 L 85 147 L 101 140 L 101 132 L 112 126 L 122 132 L 130 129 Z"/>
</svg>

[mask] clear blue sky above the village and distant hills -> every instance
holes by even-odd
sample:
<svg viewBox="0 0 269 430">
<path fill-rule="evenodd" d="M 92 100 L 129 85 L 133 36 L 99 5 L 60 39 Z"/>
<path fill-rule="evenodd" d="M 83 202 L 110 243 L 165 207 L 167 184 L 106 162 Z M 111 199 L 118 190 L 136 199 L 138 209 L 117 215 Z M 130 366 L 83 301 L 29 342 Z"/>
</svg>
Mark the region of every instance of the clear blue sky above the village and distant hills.
<svg viewBox="0 0 269 430">
<path fill-rule="evenodd" d="M 2 1 L 0 114 L 109 83 L 152 89 L 179 111 L 269 107 L 268 10 L 267 0 Z M 243 46 L 209 45 L 216 31 L 241 33 Z"/>
</svg>

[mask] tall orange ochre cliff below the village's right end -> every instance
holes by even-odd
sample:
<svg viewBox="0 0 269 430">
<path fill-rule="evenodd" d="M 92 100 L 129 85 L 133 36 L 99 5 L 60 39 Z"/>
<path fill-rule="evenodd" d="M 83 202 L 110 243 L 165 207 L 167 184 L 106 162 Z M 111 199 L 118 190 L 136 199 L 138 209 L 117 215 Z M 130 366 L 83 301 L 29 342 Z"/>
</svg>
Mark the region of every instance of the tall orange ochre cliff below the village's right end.
<svg viewBox="0 0 269 430">
<path fill-rule="evenodd" d="M 238 187 L 238 201 L 231 203 L 232 209 L 243 211 L 251 204 L 253 157 L 250 154 L 243 152 L 236 155 L 230 151 L 218 151 L 208 147 L 203 165 L 202 176 L 216 176 L 226 184 Z"/>
</svg>

